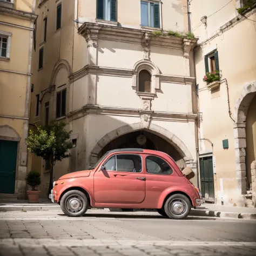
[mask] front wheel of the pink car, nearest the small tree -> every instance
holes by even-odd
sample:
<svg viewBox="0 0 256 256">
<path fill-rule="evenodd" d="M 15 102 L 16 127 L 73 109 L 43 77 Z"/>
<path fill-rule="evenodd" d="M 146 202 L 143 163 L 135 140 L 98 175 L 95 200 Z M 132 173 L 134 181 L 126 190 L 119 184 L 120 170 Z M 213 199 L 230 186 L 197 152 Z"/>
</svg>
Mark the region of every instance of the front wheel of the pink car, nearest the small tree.
<svg viewBox="0 0 256 256">
<path fill-rule="evenodd" d="M 62 211 L 69 217 L 80 217 L 88 209 L 88 199 L 82 191 L 71 190 L 66 192 L 60 200 Z"/>
</svg>

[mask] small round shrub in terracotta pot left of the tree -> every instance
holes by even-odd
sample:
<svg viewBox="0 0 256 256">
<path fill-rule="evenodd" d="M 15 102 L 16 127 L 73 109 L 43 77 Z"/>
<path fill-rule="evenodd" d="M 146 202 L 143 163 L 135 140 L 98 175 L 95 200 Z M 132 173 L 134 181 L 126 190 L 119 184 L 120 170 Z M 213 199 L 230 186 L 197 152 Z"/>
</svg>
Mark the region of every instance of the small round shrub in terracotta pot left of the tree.
<svg viewBox="0 0 256 256">
<path fill-rule="evenodd" d="M 30 171 L 26 175 L 26 184 L 28 184 L 32 190 L 28 190 L 29 203 L 38 203 L 40 191 L 36 190 L 35 187 L 41 184 L 40 173 L 36 171 Z"/>
</svg>

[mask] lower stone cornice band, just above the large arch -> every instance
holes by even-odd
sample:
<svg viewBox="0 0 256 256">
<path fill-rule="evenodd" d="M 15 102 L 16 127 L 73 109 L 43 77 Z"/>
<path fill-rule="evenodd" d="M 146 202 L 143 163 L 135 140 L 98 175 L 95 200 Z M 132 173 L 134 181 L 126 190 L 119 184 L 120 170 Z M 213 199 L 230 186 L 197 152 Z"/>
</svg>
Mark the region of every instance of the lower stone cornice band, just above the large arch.
<svg viewBox="0 0 256 256">
<path fill-rule="evenodd" d="M 70 120 L 75 120 L 86 116 L 87 114 L 107 114 L 114 116 L 129 116 L 140 117 L 142 115 L 149 115 L 153 120 L 169 120 L 175 122 L 194 122 L 197 118 L 197 114 L 193 113 L 175 113 L 165 111 L 153 111 L 143 109 L 131 109 L 126 107 L 111 107 L 100 105 L 85 105 L 81 109 L 70 112 L 67 117 Z"/>
</svg>

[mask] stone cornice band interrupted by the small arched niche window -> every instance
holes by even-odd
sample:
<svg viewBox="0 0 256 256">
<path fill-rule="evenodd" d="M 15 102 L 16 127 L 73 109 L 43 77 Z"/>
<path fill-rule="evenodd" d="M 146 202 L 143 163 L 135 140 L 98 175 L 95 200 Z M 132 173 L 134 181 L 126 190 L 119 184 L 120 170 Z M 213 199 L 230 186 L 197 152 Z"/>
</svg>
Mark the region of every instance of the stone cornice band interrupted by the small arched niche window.
<svg viewBox="0 0 256 256">
<path fill-rule="evenodd" d="M 83 69 L 80 69 L 72 73 L 69 77 L 70 82 L 73 83 L 76 80 L 88 75 L 88 73 L 96 75 L 105 75 L 105 76 L 117 76 L 117 77 L 132 77 L 134 75 L 134 70 L 132 69 L 118 69 L 118 68 L 108 68 L 104 66 L 96 65 L 86 65 Z M 187 84 L 192 85 L 194 83 L 194 77 L 185 77 L 185 76 L 173 76 L 173 75 L 159 75 L 160 81 L 165 83 L 174 83 L 174 84 Z"/>
</svg>

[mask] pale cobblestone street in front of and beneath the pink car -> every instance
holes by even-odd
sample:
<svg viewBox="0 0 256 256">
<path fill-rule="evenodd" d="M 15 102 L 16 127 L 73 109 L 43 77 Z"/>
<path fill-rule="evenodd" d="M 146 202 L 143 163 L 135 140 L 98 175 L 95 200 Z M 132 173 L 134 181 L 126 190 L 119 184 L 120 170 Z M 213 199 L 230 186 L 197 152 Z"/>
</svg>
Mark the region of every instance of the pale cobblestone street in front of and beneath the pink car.
<svg viewBox="0 0 256 256">
<path fill-rule="evenodd" d="M 0 254 L 12 255 L 255 255 L 256 221 L 154 212 L 89 210 L 82 218 L 61 211 L 0 213 Z"/>
</svg>

